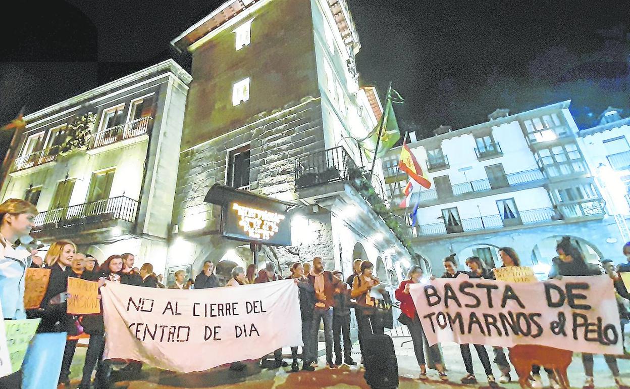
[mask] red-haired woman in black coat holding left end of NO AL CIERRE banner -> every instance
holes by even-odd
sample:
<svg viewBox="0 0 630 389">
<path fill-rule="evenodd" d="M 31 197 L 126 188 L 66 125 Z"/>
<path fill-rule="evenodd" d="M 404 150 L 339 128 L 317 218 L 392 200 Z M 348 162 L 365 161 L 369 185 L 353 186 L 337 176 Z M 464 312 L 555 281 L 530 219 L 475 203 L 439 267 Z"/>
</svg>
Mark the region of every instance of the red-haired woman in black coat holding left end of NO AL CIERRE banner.
<svg viewBox="0 0 630 389">
<path fill-rule="evenodd" d="M 106 282 L 120 282 L 121 284 L 140 286 L 142 279 L 134 275 L 124 274 L 122 267 L 122 257 L 120 255 L 112 255 L 103 262 L 100 271 L 93 272 L 93 277 L 90 281 L 100 281 L 103 279 L 103 281 Z M 106 361 L 103 361 L 103 351 L 105 350 L 105 324 L 103 323 L 102 312 L 103 305 L 101 303 L 100 314 L 83 316 L 82 325 L 86 334 L 89 334 L 89 343 L 79 389 L 91 389 L 90 381 L 95 366 L 96 381 L 94 388 L 109 388 L 111 368 Z"/>
</svg>

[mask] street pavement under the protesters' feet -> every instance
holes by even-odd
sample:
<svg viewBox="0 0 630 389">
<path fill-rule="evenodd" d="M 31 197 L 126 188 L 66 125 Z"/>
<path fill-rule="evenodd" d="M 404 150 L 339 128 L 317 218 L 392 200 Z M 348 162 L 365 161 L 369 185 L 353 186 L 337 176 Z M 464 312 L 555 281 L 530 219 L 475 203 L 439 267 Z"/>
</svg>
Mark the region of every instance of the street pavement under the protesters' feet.
<svg viewBox="0 0 630 389">
<path fill-rule="evenodd" d="M 413 346 L 409 337 L 394 337 L 394 345 L 396 347 L 396 356 L 398 357 L 400 389 L 422 389 L 422 388 L 488 388 L 486 377 L 483 374 L 483 368 L 473 352 L 473 361 L 476 377 L 479 380 L 478 385 L 462 385 L 459 380 L 466 374 L 464 364 L 459 352 L 459 346 L 456 344 L 443 345 L 444 358 L 447 364 L 450 382 L 442 383 L 438 380 L 437 373 L 429 370 L 429 380 L 417 380 L 418 364 L 416 363 L 415 354 L 413 354 Z M 324 344 L 319 344 L 320 355 L 323 355 Z M 81 369 L 85 356 L 85 347 L 79 347 L 72 363 L 72 389 L 79 384 Z M 490 347 L 488 352 L 492 356 Z M 285 350 L 285 354 L 290 354 L 289 349 Z M 189 355 L 182 357 L 202 358 L 203 354 Z M 360 360 L 358 345 L 353 347 L 353 359 Z M 290 360 L 287 359 L 290 363 Z M 329 369 L 325 366 L 325 358 L 319 358 L 319 366 L 314 372 L 300 371 L 299 373 L 290 373 L 290 368 L 280 369 L 261 369 L 260 364 L 251 362 L 243 372 L 230 371 L 229 366 L 221 366 L 204 373 L 192 374 L 176 374 L 161 371 L 150 366 L 144 366 L 142 369 L 142 379 L 135 381 L 121 381 L 113 385 L 113 388 L 120 389 L 227 389 L 227 388 L 243 388 L 243 389 L 319 389 L 319 388 L 339 388 L 351 389 L 361 388 L 369 389 L 363 378 L 364 370 L 357 366 L 343 365 L 337 369 Z M 498 379 L 499 373 L 496 366 L 495 376 Z M 622 378 L 626 383 L 630 383 L 630 359 L 619 359 L 619 369 Z M 572 388 L 581 388 L 584 380 L 584 371 L 581 364 L 580 354 L 575 354 L 573 363 L 569 367 L 569 380 Z M 517 389 L 517 377 L 515 373 L 512 376 L 513 382 L 502 385 L 506 389 Z M 548 384 L 546 374 L 542 372 L 542 379 L 545 385 Z M 602 389 L 616 388 L 612 376 L 604 357 L 595 356 L 595 386 Z M 62 388 L 62 386 L 60 386 Z"/>
</svg>

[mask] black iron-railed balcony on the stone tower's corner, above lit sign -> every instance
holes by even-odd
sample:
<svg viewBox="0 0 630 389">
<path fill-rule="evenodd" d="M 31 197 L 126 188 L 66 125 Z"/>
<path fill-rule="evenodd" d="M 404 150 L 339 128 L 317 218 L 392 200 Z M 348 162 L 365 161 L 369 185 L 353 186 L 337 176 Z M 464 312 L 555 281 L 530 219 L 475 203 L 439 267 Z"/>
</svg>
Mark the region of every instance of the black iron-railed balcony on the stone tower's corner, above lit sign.
<svg viewBox="0 0 630 389">
<path fill-rule="evenodd" d="M 348 181 L 352 169 L 358 170 L 357 165 L 341 146 L 308 154 L 295 160 L 295 187 L 304 189 Z"/>
</svg>

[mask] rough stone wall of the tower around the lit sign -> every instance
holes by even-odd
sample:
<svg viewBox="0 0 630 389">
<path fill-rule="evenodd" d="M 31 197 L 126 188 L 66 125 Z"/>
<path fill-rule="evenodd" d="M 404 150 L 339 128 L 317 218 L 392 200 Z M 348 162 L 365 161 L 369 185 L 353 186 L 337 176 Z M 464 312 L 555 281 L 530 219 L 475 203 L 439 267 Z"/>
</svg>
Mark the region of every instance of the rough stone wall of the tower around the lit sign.
<svg viewBox="0 0 630 389">
<path fill-rule="evenodd" d="M 231 246 L 243 244 L 216 241 L 221 208 L 203 202 L 212 185 L 225 183 L 230 149 L 251 145 L 250 190 L 283 200 L 296 199 L 295 158 L 325 149 L 321 115 L 319 98 L 308 98 L 293 107 L 263 113 L 260 115 L 262 119 L 250 125 L 183 151 L 173 223 L 179 226 L 180 239 L 195 245 L 212 245 L 217 250 L 193 250 L 193 258 L 176 258 L 178 253 L 170 250 L 169 265 L 176 262 L 199 264 L 207 259 L 217 262 Z M 273 248 L 280 262 L 295 262 L 298 257 L 310 260 L 314 256 L 333 260 L 329 216 L 318 217 L 315 223 L 319 223 L 316 241 L 321 243 L 312 247 L 302 245 L 299 256 L 289 253 L 289 248 Z M 266 257 L 263 256 L 262 260 Z"/>
</svg>

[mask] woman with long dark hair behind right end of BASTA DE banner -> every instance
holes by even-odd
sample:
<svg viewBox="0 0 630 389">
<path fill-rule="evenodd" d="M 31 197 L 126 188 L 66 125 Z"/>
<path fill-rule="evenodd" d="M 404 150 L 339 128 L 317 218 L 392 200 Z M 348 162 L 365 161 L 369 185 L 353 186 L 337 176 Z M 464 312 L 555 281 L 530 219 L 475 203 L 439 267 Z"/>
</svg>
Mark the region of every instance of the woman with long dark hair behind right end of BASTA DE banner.
<svg viewBox="0 0 630 389">
<path fill-rule="evenodd" d="M 560 243 L 556 246 L 556 252 L 558 253 L 559 262 L 556 262 L 557 278 L 563 276 L 599 276 L 602 272 L 587 264 L 580 249 L 571 243 L 571 238 L 564 236 Z M 608 368 L 612 373 L 612 377 L 615 380 L 615 384 L 619 389 L 630 389 L 630 386 L 625 385 L 619 377 L 619 366 L 617 366 L 617 358 L 612 355 L 605 354 L 604 359 Z M 587 352 L 582 353 L 582 364 L 584 365 L 584 373 L 586 379 L 582 389 L 595 389 L 595 383 L 593 383 L 593 354 Z"/>
</svg>

